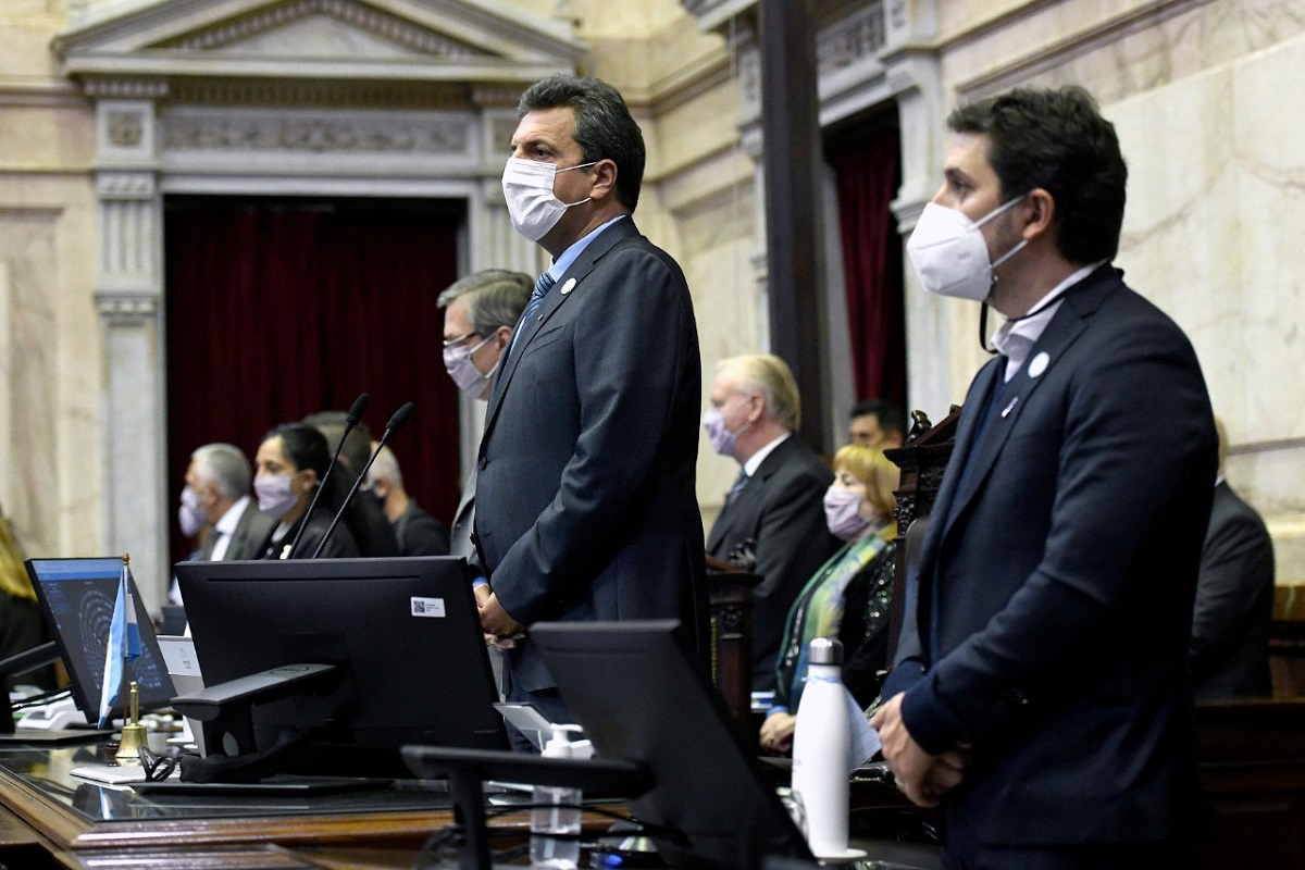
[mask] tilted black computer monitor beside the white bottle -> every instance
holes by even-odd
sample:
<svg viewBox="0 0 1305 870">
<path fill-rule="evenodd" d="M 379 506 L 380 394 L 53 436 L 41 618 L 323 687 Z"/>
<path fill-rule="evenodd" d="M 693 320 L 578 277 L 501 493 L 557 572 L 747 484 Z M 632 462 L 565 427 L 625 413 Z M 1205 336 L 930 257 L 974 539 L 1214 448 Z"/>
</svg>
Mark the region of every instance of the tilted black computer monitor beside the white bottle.
<svg viewBox="0 0 1305 870">
<path fill-rule="evenodd" d="M 675 832 L 651 835 L 672 866 L 814 861 L 677 627 L 673 620 L 536 622 L 530 637 L 598 757 L 651 771 L 652 788 L 630 809 Z"/>
</svg>

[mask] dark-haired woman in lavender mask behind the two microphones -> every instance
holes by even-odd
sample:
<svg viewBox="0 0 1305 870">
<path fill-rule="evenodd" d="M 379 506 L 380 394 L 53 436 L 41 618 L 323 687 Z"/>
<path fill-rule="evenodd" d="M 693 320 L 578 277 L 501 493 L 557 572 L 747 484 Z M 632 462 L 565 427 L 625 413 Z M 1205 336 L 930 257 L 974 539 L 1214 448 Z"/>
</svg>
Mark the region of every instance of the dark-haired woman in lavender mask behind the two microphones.
<svg viewBox="0 0 1305 870">
<path fill-rule="evenodd" d="M 287 423 L 264 436 L 254 458 L 253 489 L 258 496 L 258 510 L 278 523 L 264 545 L 261 558 L 290 558 L 290 547 L 329 466 L 326 438 L 313 427 Z M 326 481 L 326 489 L 317 500 L 317 507 L 308 518 L 299 547 L 295 548 L 295 558 L 312 558 L 326 536 L 326 530 L 348 492 L 341 480 L 339 475 L 331 475 Z M 359 554 L 354 522 L 350 511 L 346 511 L 318 558 L 348 558 Z"/>
</svg>

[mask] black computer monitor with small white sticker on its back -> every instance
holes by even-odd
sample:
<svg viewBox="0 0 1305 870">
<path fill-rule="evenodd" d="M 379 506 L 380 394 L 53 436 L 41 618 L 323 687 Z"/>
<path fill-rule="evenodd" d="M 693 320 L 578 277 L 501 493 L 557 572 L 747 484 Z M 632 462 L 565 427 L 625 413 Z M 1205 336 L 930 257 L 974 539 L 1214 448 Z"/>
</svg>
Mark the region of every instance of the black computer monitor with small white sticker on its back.
<svg viewBox="0 0 1305 870">
<path fill-rule="evenodd" d="M 312 734 L 278 772 L 410 776 L 406 743 L 506 746 L 465 560 L 180 562 L 176 578 L 209 689 L 337 667 L 325 694 L 253 707 L 258 751 Z"/>
</svg>

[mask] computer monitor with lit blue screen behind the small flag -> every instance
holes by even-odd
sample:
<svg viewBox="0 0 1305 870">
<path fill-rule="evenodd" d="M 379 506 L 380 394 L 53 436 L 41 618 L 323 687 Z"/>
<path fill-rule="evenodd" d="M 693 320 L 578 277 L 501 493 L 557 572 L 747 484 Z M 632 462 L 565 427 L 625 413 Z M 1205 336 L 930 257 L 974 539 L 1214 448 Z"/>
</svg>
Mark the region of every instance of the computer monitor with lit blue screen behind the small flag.
<svg viewBox="0 0 1305 870">
<path fill-rule="evenodd" d="M 123 560 L 116 556 L 29 558 L 25 565 L 46 622 L 55 635 L 59 655 L 68 668 L 73 700 L 86 715 L 86 720 L 94 724 L 99 719 L 104 653 L 108 650 L 108 629 L 114 621 L 117 584 L 123 579 Z M 167 707 L 176 693 L 134 579 L 130 588 L 142 651 L 127 664 L 127 678 L 137 682 L 141 710 L 158 710 Z M 115 704 L 115 717 L 123 715 L 124 700 L 125 698 L 119 698 Z"/>
</svg>

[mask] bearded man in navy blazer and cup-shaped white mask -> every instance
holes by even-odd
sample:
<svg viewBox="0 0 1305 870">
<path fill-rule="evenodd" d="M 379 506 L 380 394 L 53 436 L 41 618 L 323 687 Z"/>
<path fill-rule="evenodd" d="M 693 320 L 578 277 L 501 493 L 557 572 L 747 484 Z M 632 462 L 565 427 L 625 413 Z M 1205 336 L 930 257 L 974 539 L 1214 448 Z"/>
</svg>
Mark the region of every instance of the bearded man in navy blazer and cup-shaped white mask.
<svg viewBox="0 0 1305 870">
<path fill-rule="evenodd" d="M 944 805 L 946 867 L 1185 866 L 1216 471 L 1201 368 L 1111 265 L 1128 170 L 1084 90 L 1011 91 L 949 125 L 907 250 L 927 290 L 1007 320 L 872 724 L 906 796 Z"/>
</svg>

